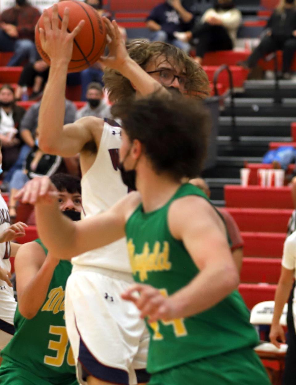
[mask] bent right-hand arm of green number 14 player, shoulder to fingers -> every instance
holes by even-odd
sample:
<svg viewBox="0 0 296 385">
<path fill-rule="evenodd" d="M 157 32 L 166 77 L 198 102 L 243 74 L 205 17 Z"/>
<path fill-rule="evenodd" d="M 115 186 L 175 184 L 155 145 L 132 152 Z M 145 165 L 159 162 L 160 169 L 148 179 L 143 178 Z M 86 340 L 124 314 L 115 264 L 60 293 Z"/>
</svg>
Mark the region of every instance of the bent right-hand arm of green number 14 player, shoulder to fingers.
<svg viewBox="0 0 296 385">
<path fill-rule="evenodd" d="M 179 199 L 169 209 L 168 222 L 171 234 L 184 243 L 200 272 L 168 298 L 148 285 L 130 288 L 123 298 L 139 305 L 141 316 L 149 315 L 151 321 L 201 313 L 222 301 L 239 283 L 225 229 L 209 203 L 196 196 Z M 142 298 L 132 296 L 135 290 Z"/>
</svg>

